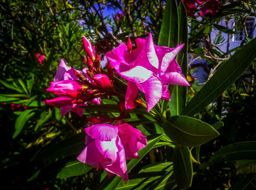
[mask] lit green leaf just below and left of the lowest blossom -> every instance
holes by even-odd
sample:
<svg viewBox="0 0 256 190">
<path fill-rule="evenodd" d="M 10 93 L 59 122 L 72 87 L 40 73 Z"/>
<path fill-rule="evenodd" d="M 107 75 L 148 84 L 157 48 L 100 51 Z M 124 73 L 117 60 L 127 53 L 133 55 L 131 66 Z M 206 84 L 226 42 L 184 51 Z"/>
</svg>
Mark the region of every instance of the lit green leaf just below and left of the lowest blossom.
<svg viewBox="0 0 256 190">
<path fill-rule="evenodd" d="M 67 165 L 65 165 L 65 167 L 59 171 L 56 178 L 64 179 L 76 175 L 82 175 L 88 173 L 91 169 L 92 167 L 89 167 L 88 165 L 79 162 L 78 160 L 69 161 L 67 162 Z"/>
</svg>

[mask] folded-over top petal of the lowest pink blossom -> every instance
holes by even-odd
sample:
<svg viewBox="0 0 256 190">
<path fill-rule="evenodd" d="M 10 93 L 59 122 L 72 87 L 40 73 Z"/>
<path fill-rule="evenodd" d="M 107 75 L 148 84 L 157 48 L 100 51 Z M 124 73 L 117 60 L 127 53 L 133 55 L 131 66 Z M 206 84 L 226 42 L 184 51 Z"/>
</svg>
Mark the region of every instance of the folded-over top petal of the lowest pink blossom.
<svg viewBox="0 0 256 190">
<path fill-rule="evenodd" d="M 98 140 L 111 140 L 118 134 L 118 128 L 111 124 L 94 124 L 85 131 L 91 138 Z"/>
</svg>

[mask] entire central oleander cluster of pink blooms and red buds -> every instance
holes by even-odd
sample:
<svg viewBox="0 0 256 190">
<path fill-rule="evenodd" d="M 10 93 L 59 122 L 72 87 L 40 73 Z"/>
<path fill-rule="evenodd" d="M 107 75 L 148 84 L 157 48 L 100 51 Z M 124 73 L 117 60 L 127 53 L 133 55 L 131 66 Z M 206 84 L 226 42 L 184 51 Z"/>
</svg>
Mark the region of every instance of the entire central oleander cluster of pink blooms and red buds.
<svg viewBox="0 0 256 190">
<path fill-rule="evenodd" d="M 161 98 L 170 100 L 167 84 L 189 86 L 175 60 L 184 44 L 174 48 L 158 47 L 154 45 L 151 33 L 148 39 L 138 38 L 135 43 L 134 50 L 132 41 L 128 39 L 127 45 L 120 44 L 106 53 L 109 63 L 108 72 L 105 73 L 101 68 L 99 55 L 95 55 L 94 47 L 83 36 L 87 57 L 81 59 L 87 67 L 78 71 L 61 60 L 54 81 L 47 89 L 58 97 L 45 100 L 50 106 L 60 107 L 61 116 L 68 111 L 83 116 L 88 103 L 99 104 L 103 96 L 118 96 L 120 116 L 111 118 L 97 114 L 87 118 L 94 125 L 85 129 L 86 147 L 78 160 L 96 169 L 105 169 L 109 176 L 118 175 L 127 181 L 126 160 L 138 158 L 138 151 L 147 144 L 146 136 L 140 130 L 123 123 L 122 120 L 129 114 L 128 109 L 143 105 L 142 100 L 137 97 L 138 90 L 145 94 L 147 111 L 151 111 Z M 113 86 L 112 68 L 118 76 L 128 81 L 125 95 L 117 92 Z M 113 125 L 113 122 L 116 124 Z"/>
</svg>

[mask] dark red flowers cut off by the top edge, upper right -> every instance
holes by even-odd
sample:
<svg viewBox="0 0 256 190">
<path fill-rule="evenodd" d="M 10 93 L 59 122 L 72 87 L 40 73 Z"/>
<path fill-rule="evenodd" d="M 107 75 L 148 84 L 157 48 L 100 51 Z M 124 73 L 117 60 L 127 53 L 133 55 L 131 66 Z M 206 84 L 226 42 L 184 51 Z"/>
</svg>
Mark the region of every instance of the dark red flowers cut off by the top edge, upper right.
<svg viewBox="0 0 256 190">
<path fill-rule="evenodd" d="M 200 10 L 200 17 L 204 17 L 208 14 L 216 15 L 216 10 L 221 10 L 218 0 L 182 0 L 189 17 L 195 17 L 195 12 Z"/>
</svg>

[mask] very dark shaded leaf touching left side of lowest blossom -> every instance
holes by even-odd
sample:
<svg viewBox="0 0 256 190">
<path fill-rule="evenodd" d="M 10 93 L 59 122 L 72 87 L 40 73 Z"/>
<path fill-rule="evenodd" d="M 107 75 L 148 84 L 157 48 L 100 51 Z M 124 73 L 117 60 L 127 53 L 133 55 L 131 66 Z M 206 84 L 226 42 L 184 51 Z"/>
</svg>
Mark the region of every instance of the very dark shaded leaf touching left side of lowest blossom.
<svg viewBox="0 0 256 190">
<path fill-rule="evenodd" d="M 68 157 L 71 155 L 78 155 L 86 147 L 84 142 L 84 133 L 73 135 L 71 138 L 61 140 L 59 143 L 45 147 L 37 158 L 39 159 L 56 159 L 61 157 Z"/>
</svg>

